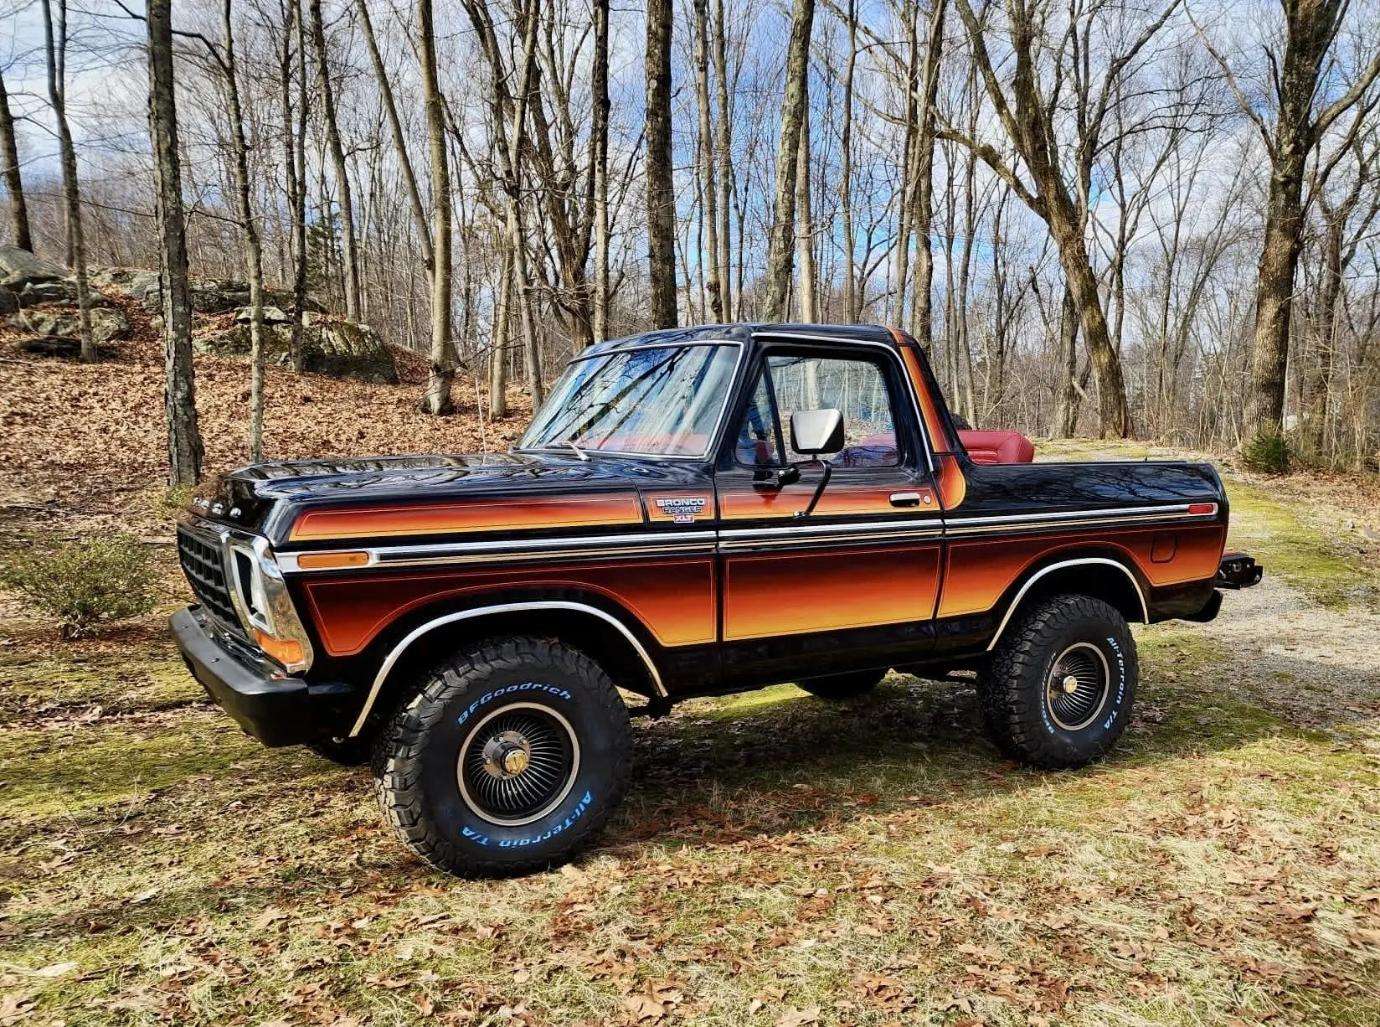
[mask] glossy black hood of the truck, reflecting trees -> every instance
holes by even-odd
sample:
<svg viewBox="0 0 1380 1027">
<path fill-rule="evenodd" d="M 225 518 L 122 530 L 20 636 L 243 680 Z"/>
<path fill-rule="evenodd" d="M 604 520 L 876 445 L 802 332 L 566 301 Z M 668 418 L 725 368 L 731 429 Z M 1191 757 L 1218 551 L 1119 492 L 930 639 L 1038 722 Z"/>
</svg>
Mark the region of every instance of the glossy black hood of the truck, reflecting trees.
<svg viewBox="0 0 1380 1027">
<path fill-rule="evenodd" d="M 480 497 L 705 487 L 702 465 L 574 453 L 348 457 L 254 464 L 222 475 L 190 512 L 276 540 L 305 509 Z"/>
</svg>

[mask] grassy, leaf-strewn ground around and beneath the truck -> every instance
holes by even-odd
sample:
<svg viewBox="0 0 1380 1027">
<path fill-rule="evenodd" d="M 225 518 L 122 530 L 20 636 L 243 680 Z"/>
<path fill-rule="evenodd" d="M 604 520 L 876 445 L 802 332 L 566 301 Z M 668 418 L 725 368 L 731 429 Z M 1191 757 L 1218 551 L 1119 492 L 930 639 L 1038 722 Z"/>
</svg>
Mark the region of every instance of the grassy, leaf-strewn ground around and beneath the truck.
<svg viewBox="0 0 1380 1027">
<path fill-rule="evenodd" d="M 160 373 L 0 363 L 0 547 L 168 537 Z M 217 469 L 243 375 L 199 362 Z M 269 396 L 273 454 L 479 442 L 415 387 Z M 210 705 L 163 627 L 170 547 L 167 609 L 95 638 L 0 599 L 0 1024 L 1380 1024 L 1380 494 L 1228 489 L 1265 581 L 1137 628 L 1105 762 L 1017 767 L 970 687 L 904 675 L 846 708 L 697 700 L 635 725 L 584 857 L 513 881 L 425 868 L 366 772 Z"/>
</svg>

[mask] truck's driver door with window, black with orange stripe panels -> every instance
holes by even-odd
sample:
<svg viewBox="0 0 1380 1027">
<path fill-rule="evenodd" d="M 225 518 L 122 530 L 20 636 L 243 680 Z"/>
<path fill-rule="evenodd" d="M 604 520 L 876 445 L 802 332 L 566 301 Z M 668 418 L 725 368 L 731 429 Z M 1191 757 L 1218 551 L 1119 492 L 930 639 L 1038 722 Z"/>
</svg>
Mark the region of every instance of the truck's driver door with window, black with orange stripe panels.
<svg viewBox="0 0 1380 1027">
<path fill-rule="evenodd" d="M 930 636 L 940 577 L 940 509 L 900 360 L 781 345 L 752 374 L 716 476 L 724 671 L 889 665 Z M 842 413 L 845 444 L 805 516 L 824 464 L 792 450 L 789 425 L 813 409 Z M 792 465 L 799 480 L 774 487 Z"/>
</svg>

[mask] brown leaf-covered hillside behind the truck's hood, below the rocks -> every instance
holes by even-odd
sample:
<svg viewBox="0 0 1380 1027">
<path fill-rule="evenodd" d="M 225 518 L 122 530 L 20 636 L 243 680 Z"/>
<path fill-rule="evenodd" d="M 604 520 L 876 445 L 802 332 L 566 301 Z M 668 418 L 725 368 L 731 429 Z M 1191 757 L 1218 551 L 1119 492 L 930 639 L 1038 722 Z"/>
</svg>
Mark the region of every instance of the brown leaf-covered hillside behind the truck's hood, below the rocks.
<svg viewBox="0 0 1380 1027">
<path fill-rule="evenodd" d="M 113 288 L 103 294 L 127 317 L 130 337 L 102 344 L 105 356 L 94 364 L 25 352 L 26 333 L 0 319 L 0 461 L 7 468 L 0 516 L 11 523 L 97 518 L 152 529 L 167 519 L 160 507 L 167 449 L 161 338 L 138 302 Z M 265 457 L 502 450 L 527 424 L 529 402 L 516 389 L 512 415 L 482 424 L 475 381 L 464 374 L 455 381 L 455 415 L 422 414 L 425 362 L 399 349 L 395 362 L 399 385 L 269 364 Z M 243 465 L 248 363 L 200 353 L 195 363 L 206 471 Z"/>
</svg>

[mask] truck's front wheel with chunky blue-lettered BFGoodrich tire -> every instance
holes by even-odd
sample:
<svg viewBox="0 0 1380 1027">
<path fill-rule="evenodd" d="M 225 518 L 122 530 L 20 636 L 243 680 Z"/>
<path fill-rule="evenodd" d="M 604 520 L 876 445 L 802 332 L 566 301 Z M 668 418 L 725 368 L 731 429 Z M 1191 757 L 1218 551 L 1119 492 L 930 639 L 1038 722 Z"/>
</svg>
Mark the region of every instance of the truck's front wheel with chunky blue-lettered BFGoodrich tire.
<svg viewBox="0 0 1380 1027">
<path fill-rule="evenodd" d="M 468 646 L 379 734 L 384 814 L 439 870 L 497 877 L 564 863 L 622 799 L 628 710 L 584 653 L 551 639 Z"/>
</svg>

